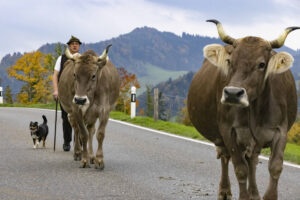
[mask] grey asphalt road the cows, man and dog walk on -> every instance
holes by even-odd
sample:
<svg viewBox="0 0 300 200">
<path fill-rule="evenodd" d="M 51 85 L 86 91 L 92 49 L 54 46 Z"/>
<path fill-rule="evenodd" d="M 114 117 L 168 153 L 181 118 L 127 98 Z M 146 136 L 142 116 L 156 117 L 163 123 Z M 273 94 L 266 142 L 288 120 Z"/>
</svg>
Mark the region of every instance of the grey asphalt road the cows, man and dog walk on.
<svg viewBox="0 0 300 200">
<path fill-rule="evenodd" d="M 48 118 L 46 149 L 33 149 L 30 121 Z M 220 161 L 214 147 L 110 121 L 104 140 L 105 169 L 79 168 L 62 150 L 58 113 L 53 152 L 54 111 L 0 108 L 0 199 L 5 200 L 135 200 L 217 199 Z M 96 140 L 94 140 L 94 148 Z M 234 199 L 238 186 L 230 166 Z M 268 185 L 267 161 L 258 164 L 261 196 Z M 279 199 L 300 199 L 300 169 L 285 166 Z"/>
</svg>

